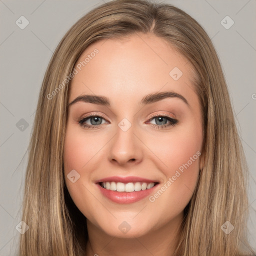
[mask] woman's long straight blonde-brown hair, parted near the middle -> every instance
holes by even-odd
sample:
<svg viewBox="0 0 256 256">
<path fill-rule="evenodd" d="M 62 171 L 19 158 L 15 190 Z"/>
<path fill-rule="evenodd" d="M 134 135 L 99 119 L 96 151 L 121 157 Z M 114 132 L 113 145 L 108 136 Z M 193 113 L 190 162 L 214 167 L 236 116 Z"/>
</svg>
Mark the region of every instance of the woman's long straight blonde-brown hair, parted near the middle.
<svg viewBox="0 0 256 256">
<path fill-rule="evenodd" d="M 45 72 L 29 143 L 22 211 L 29 229 L 20 237 L 20 256 L 85 255 L 85 217 L 72 202 L 63 178 L 69 74 L 91 43 L 134 33 L 152 33 L 166 40 L 188 59 L 196 74 L 203 168 L 184 209 L 174 255 L 241 255 L 240 242 L 252 252 L 246 237 L 248 170 L 210 38 L 196 20 L 173 5 L 113 0 L 89 11 L 66 32 Z M 234 226 L 229 234 L 221 229 L 225 221 Z"/>
</svg>

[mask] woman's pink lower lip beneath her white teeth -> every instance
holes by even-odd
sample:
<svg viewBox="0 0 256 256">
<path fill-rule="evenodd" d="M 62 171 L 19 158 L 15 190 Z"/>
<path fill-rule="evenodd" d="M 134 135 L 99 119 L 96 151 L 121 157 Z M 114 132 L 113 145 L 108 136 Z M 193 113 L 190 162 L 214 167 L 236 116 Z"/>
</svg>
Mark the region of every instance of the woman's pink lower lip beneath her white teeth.
<svg viewBox="0 0 256 256">
<path fill-rule="evenodd" d="M 100 192 L 111 201 L 117 202 L 117 203 L 132 203 L 132 202 L 137 202 L 145 198 L 146 196 L 149 196 L 149 194 L 152 193 L 152 191 L 158 184 L 154 185 L 149 189 L 133 191 L 133 192 L 112 191 L 112 190 L 103 188 L 99 183 L 97 183 L 96 185 L 99 187 Z"/>
</svg>

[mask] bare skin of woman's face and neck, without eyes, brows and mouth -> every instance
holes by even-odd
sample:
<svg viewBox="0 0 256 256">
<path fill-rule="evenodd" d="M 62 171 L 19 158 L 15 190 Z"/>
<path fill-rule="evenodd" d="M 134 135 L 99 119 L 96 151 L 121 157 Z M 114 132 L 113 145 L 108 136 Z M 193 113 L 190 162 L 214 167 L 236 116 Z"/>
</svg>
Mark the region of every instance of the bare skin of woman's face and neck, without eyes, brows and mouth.
<svg viewBox="0 0 256 256">
<path fill-rule="evenodd" d="M 128 204 L 112 202 L 101 194 L 95 180 L 139 176 L 159 180 L 161 187 L 201 150 L 201 113 L 191 81 L 192 67 L 152 34 L 94 42 L 77 63 L 95 48 L 99 52 L 73 77 L 68 102 L 80 94 L 96 94 L 108 97 L 111 106 L 71 104 L 63 154 L 67 189 L 87 218 L 86 255 L 171 255 L 179 239 L 183 209 L 197 182 L 199 158 L 153 202 L 148 197 Z M 173 67 L 182 70 L 178 80 L 169 75 Z M 159 91 L 179 93 L 189 105 L 177 97 L 139 105 L 143 96 Z M 78 123 L 90 113 L 103 116 L 95 129 Z M 170 122 L 164 119 L 161 124 L 152 114 L 169 114 L 178 122 L 162 129 L 153 127 Z M 125 132 L 118 126 L 123 118 L 131 123 Z M 93 125 L 90 118 L 86 123 Z M 74 183 L 67 178 L 72 169 L 80 174 Z M 118 228 L 123 221 L 131 227 L 126 233 Z"/>
</svg>

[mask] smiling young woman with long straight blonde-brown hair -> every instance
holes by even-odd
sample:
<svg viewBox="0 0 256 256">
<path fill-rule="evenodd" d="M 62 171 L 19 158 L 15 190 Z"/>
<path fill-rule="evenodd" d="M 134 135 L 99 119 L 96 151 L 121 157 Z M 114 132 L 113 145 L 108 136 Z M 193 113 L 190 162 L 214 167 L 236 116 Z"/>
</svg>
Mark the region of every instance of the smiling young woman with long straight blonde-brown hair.
<svg viewBox="0 0 256 256">
<path fill-rule="evenodd" d="M 253 253 L 221 66 L 172 5 L 114 0 L 67 31 L 29 149 L 20 255 Z"/>
</svg>

